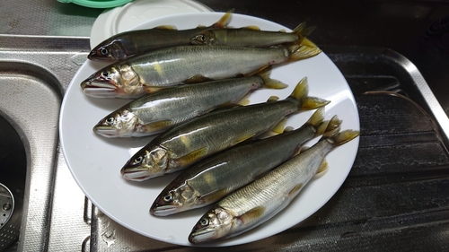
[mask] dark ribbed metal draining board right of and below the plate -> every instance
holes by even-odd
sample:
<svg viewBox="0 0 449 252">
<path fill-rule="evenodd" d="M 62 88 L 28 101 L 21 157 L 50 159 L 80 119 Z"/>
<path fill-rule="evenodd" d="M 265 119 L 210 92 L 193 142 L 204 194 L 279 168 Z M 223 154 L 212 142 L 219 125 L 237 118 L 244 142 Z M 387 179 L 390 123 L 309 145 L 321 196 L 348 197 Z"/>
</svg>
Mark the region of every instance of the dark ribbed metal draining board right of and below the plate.
<svg viewBox="0 0 449 252">
<path fill-rule="evenodd" d="M 233 251 L 447 250 L 449 127 L 427 83 L 407 58 L 389 49 L 321 48 L 357 100 L 361 136 L 354 166 L 313 216 Z M 204 250 L 145 238 L 88 201 L 84 217 L 92 227 L 90 237 L 79 240 L 83 251 Z"/>
</svg>

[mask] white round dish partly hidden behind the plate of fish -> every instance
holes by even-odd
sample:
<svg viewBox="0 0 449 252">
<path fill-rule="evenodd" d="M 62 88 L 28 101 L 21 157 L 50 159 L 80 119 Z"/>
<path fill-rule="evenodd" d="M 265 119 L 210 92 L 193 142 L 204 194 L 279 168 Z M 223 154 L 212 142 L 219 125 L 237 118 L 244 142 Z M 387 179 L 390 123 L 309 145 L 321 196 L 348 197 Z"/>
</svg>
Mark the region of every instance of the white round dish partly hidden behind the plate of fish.
<svg viewBox="0 0 449 252">
<path fill-rule="evenodd" d="M 135 0 L 120 7 L 105 10 L 93 22 L 91 48 L 104 39 L 129 30 L 154 18 L 179 13 L 208 13 L 211 9 L 192 0 Z"/>
</svg>

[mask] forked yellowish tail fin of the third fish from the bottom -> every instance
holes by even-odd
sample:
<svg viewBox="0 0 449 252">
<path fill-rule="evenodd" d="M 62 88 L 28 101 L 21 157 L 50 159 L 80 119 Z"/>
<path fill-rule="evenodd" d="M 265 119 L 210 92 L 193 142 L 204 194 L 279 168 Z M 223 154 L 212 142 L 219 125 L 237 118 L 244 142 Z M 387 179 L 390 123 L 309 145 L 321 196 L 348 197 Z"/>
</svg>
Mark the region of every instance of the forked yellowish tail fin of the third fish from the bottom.
<svg viewBox="0 0 449 252">
<path fill-rule="evenodd" d="M 298 110 L 318 109 L 329 104 L 330 100 L 309 96 L 309 84 L 307 77 L 304 77 L 295 87 L 289 98 L 298 101 Z"/>
</svg>

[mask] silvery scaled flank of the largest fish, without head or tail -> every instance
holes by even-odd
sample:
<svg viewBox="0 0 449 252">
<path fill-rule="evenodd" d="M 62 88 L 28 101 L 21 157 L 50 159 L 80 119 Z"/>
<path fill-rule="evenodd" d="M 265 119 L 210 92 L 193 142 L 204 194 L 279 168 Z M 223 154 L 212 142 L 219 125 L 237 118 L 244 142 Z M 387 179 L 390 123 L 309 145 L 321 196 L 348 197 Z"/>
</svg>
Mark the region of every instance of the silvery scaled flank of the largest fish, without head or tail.
<svg viewBox="0 0 449 252">
<path fill-rule="evenodd" d="M 167 48 L 125 63 L 147 86 L 170 86 L 192 78 L 218 80 L 251 74 L 267 65 L 285 62 L 286 48 L 189 46 Z"/>
</svg>

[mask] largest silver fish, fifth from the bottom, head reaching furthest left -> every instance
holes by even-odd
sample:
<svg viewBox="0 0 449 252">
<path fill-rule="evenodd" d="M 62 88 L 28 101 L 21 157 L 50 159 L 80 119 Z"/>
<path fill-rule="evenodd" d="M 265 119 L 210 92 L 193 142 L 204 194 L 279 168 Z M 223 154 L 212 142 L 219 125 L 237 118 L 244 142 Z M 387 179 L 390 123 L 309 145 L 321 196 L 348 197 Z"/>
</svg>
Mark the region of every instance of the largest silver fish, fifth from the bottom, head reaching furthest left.
<svg viewBox="0 0 449 252">
<path fill-rule="evenodd" d="M 180 83 L 198 83 L 251 75 L 269 65 L 319 54 L 316 46 L 235 48 L 187 46 L 156 50 L 108 65 L 81 87 L 93 97 L 131 98 Z"/>
</svg>

